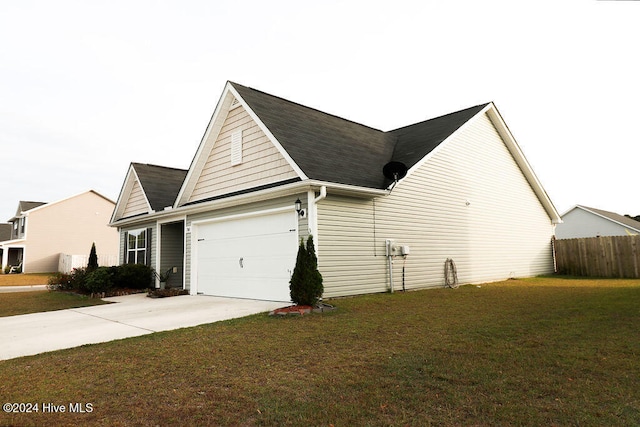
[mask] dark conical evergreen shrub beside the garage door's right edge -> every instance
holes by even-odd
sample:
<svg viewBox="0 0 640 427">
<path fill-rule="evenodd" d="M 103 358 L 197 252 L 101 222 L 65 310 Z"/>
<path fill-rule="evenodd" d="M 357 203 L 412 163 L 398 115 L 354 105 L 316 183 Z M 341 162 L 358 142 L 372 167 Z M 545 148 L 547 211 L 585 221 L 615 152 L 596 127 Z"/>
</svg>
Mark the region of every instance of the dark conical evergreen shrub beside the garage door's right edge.
<svg viewBox="0 0 640 427">
<path fill-rule="evenodd" d="M 324 287 L 322 285 L 322 275 L 318 271 L 318 258 L 313 245 L 313 237 L 307 239 L 307 246 L 304 240 L 300 239 L 296 266 L 289 282 L 291 300 L 297 305 L 315 305 Z"/>
</svg>

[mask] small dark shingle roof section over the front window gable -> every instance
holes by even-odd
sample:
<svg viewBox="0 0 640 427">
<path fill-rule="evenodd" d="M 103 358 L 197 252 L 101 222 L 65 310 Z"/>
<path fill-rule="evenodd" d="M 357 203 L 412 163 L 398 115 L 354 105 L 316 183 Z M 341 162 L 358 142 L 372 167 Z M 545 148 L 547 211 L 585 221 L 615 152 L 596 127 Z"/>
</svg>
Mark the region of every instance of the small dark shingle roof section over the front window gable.
<svg viewBox="0 0 640 427">
<path fill-rule="evenodd" d="M 167 206 L 173 206 L 187 176 L 186 170 L 143 163 L 131 165 L 138 175 L 151 209 L 161 211 Z"/>
</svg>

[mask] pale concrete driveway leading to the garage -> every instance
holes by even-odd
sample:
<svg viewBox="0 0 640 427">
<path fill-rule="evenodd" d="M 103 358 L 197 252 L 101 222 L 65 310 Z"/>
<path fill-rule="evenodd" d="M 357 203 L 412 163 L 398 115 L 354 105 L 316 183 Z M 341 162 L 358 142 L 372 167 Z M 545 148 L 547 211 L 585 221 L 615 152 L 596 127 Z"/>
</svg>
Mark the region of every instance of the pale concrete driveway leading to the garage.
<svg viewBox="0 0 640 427">
<path fill-rule="evenodd" d="M 288 305 L 210 296 L 105 298 L 114 304 L 0 317 L 0 360 L 244 317 Z"/>
</svg>

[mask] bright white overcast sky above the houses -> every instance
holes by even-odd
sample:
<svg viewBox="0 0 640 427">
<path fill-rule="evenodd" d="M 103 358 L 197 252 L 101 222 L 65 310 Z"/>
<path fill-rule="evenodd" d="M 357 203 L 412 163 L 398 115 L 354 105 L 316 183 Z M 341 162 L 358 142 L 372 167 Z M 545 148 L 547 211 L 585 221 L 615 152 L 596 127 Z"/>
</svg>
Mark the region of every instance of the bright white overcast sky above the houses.
<svg viewBox="0 0 640 427">
<path fill-rule="evenodd" d="M 0 0 L 0 221 L 187 169 L 227 80 L 391 130 L 495 102 L 560 213 L 640 214 L 640 2 Z"/>
</svg>

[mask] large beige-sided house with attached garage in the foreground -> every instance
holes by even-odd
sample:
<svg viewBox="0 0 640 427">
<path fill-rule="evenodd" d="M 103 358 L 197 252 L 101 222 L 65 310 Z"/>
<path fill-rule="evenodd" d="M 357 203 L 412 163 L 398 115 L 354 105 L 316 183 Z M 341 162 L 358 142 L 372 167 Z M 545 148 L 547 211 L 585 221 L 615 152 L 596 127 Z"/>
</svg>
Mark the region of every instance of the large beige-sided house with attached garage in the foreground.
<svg viewBox="0 0 640 427">
<path fill-rule="evenodd" d="M 447 258 L 460 283 L 551 273 L 559 221 L 493 103 L 383 132 L 232 82 L 189 170 L 131 164 L 112 217 L 123 262 L 277 301 L 308 235 L 336 297 L 441 287 Z"/>
</svg>

